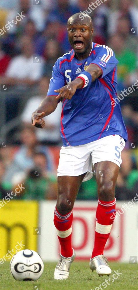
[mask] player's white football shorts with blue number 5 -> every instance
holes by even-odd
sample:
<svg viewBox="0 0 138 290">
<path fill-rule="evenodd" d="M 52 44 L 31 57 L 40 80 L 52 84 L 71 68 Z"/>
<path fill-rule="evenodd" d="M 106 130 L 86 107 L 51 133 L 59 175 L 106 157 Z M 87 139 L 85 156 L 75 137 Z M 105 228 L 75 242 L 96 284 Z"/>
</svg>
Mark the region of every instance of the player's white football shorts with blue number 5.
<svg viewBox="0 0 138 290">
<path fill-rule="evenodd" d="M 79 146 L 61 147 L 57 176 L 85 175 L 83 181 L 93 176 L 92 165 L 101 161 L 112 161 L 121 166 L 121 151 L 125 141 L 119 135 L 109 135 Z"/>
</svg>

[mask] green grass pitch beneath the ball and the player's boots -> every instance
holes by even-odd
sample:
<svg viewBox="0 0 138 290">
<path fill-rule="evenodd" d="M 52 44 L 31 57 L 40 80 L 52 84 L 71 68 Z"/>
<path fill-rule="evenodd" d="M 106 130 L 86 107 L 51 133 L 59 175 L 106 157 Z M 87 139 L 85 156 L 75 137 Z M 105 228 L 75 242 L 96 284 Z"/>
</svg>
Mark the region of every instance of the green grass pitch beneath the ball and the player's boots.
<svg viewBox="0 0 138 290">
<path fill-rule="evenodd" d="M 36 282 L 20 282 L 16 281 L 10 274 L 9 263 L 5 262 L 0 265 L 0 289 L 1 290 L 95 290 L 96 287 L 99 289 L 109 289 L 109 290 L 137 290 L 138 280 L 137 280 L 137 265 L 125 264 L 125 263 L 115 263 L 110 262 L 109 265 L 112 268 L 112 274 L 114 270 L 122 273 L 111 285 L 100 286 L 105 279 L 109 277 L 103 276 L 99 277 L 96 272 L 92 272 L 89 269 L 88 261 L 75 261 L 70 268 L 70 276 L 67 280 L 55 281 L 53 274 L 56 263 L 45 263 L 45 268 L 43 275 Z M 112 281 L 111 274 L 111 281 Z M 116 277 L 116 276 L 115 276 Z M 109 283 L 109 282 L 108 282 Z M 34 288 L 36 285 L 38 287 Z M 96 288 L 98 290 L 98 288 Z"/>
</svg>

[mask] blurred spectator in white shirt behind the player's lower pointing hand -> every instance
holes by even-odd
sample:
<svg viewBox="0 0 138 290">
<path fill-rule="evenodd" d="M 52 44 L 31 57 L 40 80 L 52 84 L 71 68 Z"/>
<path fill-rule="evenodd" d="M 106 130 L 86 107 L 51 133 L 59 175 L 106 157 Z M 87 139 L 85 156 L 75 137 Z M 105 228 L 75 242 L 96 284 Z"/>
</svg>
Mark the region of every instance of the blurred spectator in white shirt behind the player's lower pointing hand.
<svg viewBox="0 0 138 290">
<path fill-rule="evenodd" d="M 22 121 L 24 125 L 30 124 L 32 112 L 35 110 L 36 107 L 40 105 L 43 98 L 45 98 L 48 91 L 48 86 L 49 86 L 49 77 L 48 78 L 43 77 L 39 84 L 40 95 L 31 97 L 25 105 L 24 111 L 22 113 Z M 43 128 L 43 130 L 35 128 L 37 138 L 40 142 L 43 141 L 47 144 L 52 145 L 53 144 L 57 145 L 59 142 L 61 142 L 60 137 L 61 109 L 62 103 L 59 103 L 56 110 L 52 114 L 44 118 L 45 128 Z"/>
</svg>

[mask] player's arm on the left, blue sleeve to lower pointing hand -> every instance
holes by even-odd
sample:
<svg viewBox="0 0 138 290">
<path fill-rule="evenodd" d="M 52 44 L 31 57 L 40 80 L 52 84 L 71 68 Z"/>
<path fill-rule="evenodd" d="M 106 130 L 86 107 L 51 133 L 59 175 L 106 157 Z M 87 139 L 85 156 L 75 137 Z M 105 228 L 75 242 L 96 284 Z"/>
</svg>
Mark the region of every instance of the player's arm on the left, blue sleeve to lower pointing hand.
<svg viewBox="0 0 138 290">
<path fill-rule="evenodd" d="M 45 126 L 43 117 L 48 116 L 56 110 L 59 100 L 56 99 L 58 93 L 55 93 L 55 89 L 61 88 L 65 85 L 64 74 L 59 69 L 59 60 L 56 61 L 53 71 L 52 78 L 49 84 L 49 90 L 46 98 L 40 103 L 38 109 L 32 114 L 32 124 L 38 128 Z"/>
</svg>

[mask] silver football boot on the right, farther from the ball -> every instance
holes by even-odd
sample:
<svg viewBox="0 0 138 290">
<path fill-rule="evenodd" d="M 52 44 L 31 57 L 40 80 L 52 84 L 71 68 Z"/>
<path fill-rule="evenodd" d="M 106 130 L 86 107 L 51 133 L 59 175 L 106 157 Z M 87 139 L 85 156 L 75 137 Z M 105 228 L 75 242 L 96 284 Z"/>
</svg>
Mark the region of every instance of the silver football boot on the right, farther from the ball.
<svg viewBox="0 0 138 290">
<path fill-rule="evenodd" d="M 107 263 L 107 258 L 105 258 L 103 255 L 98 255 L 90 259 L 89 266 L 92 271 L 96 270 L 96 273 L 100 277 L 103 275 L 109 276 L 112 273 L 112 270 Z"/>
</svg>

